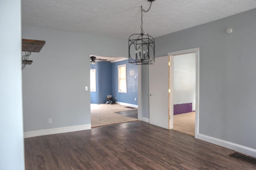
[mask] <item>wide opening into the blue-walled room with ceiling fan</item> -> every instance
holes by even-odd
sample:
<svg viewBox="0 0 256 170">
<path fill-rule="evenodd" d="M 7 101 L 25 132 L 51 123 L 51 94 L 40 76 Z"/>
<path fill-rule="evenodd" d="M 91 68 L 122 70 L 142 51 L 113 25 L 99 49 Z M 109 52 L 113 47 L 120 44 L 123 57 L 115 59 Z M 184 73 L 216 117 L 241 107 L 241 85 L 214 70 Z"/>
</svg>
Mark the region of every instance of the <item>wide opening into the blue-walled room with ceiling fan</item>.
<svg viewBox="0 0 256 170">
<path fill-rule="evenodd" d="M 138 66 L 124 57 L 90 59 L 92 128 L 138 121 Z"/>
</svg>

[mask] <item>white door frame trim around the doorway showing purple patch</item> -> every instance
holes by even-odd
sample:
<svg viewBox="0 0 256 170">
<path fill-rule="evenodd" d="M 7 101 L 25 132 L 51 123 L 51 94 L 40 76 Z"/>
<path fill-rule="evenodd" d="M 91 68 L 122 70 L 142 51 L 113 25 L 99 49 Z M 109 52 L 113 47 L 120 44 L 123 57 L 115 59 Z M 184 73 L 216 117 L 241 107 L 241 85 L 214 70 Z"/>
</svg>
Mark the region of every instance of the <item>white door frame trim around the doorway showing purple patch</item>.
<svg viewBox="0 0 256 170">
<path fill-rule="evenodd" d="M 196 120 L 195 120 L 195 138 L 198 138 L 199 133 L 199 48 L 186 49 L 168 53 L 171 62 L 170 69 L 170 129 L 173 129 L 173 57 L 187 53 L 196 53 Z"/>
</svg>

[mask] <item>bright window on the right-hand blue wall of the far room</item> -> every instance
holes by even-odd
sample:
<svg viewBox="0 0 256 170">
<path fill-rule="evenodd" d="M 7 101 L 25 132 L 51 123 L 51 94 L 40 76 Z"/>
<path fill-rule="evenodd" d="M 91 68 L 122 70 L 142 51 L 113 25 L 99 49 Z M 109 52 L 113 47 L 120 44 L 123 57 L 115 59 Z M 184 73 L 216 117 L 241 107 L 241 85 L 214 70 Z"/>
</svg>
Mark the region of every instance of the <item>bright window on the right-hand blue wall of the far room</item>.
<svg viewBox="0 0 256 170">
<path fill-rule="evenodd" d="M 118 66 L 118 92 L 127 93 L 126 64 Z"/>
</svg>

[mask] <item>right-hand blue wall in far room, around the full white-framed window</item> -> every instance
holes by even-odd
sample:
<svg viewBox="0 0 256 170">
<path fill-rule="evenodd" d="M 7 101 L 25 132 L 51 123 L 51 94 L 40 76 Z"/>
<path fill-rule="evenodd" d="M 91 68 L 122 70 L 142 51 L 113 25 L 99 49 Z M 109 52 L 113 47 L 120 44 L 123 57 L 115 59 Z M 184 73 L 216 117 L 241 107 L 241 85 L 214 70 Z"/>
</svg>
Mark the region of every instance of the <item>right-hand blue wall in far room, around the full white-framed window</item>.
<svg viewBox="0 0 256 170">
<path fill-rule="evenodd" d="M 118 92 L 118 65 L 126 64 L 127 93 Z M 117 102 L 138 105 L 138 65 L 128 63 L 128 60 L 111 63 L 112 66 L 112 97 Z M 134 76 L 130 76 L 134 70 Z M 136 78 L 135 78 L 136 76 Z M 135 98 L 137 99 L 135 101 Z"/>
</svg>

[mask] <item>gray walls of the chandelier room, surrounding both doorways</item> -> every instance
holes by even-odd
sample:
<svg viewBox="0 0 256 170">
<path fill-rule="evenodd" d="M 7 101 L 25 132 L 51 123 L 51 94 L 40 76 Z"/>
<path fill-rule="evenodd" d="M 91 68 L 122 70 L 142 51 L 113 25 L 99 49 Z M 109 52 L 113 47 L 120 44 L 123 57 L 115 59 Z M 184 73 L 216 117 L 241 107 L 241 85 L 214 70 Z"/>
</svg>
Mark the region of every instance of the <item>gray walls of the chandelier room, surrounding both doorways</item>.
<svg viewBox="0 0 256 170">
<path fill-rule="evenodd" d="M 155 39 L 156 56 L 200 47 L 199 132 L 254 149 L 255 18 L 254 9 Z M 24 130 L 90 123 L 89 55 L 127 57 L 127 40 L 27 26 L 22 36 L 46 40 L 23 71 Z M 148 66 L 142 66 L 142 116 L 148 117 Z"/>
</svg>

